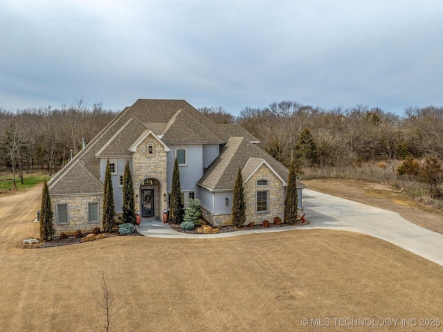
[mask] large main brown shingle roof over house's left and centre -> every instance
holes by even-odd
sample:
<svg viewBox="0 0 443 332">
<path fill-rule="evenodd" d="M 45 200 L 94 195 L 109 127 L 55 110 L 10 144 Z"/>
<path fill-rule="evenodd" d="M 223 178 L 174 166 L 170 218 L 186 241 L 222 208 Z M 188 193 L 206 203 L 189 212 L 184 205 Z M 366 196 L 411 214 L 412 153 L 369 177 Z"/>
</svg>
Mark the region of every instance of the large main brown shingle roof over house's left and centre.
<svg viewBox="0 0 443 332">
<path fill-rule="evenodd" d="M 248 142 L 256 140 L 237 124 L 215 124 L 185 100 L 139 99 L 111 120 L 71 163 L 56 174 L 48 183 L 51 194 L 89 193 L 98 189 L 96 185 L 88 185 L 93 180 L 101 185 L 97 157 L 130 156 L 127 149 L 145 130 L 152 130 L 165 144 L 224 144 L 230 136 L 246 137 Z M 80 172 L 81 169 L 84 172 Z M 73 185 L 74 181 L 82 185 Z M 73 185 L 72 190 L 70 185 Z"/>
</svg>

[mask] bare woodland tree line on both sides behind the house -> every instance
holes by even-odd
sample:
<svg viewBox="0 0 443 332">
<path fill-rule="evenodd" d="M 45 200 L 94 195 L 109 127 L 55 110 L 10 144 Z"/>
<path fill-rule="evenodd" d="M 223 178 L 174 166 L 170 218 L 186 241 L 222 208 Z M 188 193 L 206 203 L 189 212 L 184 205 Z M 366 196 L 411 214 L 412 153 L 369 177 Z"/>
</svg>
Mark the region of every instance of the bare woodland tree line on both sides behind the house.
<svg viewBox="0 0 443 332">
<path fill-rule="evenodd" d="M 287 167 L 293 158 L 300 169 L 369 160 L 385 160 L 393 168 L 394 160 L 406 156 L 443 159 L 443 107 L 408 107 L 399 115 L 364 105 L 323 109 L 284 100 L 245 107 L 239 116 L 223 107 L 199 111 L 217 123 L 240 124 Z M 90 108 L 82 100 L 57 109 L 0 108 L 0 167 L 57 172 L 71 149 L 80 151 L 82 138 L 89 142 L 114 116 L 102 103 Z"/>
</svg>

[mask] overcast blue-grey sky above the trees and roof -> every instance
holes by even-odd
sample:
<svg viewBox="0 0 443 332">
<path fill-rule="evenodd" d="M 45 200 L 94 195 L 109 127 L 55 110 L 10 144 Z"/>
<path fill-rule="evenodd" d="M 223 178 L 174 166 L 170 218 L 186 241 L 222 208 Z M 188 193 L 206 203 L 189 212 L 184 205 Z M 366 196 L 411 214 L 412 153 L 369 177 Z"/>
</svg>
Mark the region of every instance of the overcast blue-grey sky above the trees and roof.
<svg viewBox="0 0 443 332">
<path fill-rule="evenodd" d="M 0 1 L 0 107 L 443 107 L 443 1 Z"/>
</svg>

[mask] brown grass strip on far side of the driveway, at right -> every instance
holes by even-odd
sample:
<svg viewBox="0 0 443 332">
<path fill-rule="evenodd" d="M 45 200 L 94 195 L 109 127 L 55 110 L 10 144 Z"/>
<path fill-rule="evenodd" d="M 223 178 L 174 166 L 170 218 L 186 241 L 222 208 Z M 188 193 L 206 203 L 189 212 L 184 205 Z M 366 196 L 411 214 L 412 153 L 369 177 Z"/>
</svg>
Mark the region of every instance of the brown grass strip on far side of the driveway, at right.
<svg viewBox="0 0 443 332">
<path fill-rule="evenodd" d="M 416 225 L 443 234 L 443 212 L 410 199 L 388 185 L 345 179 L 303 180 L 307 189 L 397 212 Z"/>
</svg>

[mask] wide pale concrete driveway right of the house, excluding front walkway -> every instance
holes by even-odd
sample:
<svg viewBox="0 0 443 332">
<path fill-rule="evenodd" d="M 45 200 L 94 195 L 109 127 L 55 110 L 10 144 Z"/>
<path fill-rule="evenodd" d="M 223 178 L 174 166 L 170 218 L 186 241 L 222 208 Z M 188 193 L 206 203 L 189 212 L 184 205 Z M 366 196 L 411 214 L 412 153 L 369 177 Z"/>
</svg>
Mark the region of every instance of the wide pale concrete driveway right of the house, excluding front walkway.
<svg viewBox="0 0 443 332">
<path fill-rule="evenodd" d="M 396 212 L 306 189 L 303 207 L 311 224 L 298 229 L 324 228 L 368 234 L 443 266 L 443 235 L 410 223 Z"/>
</svg>

